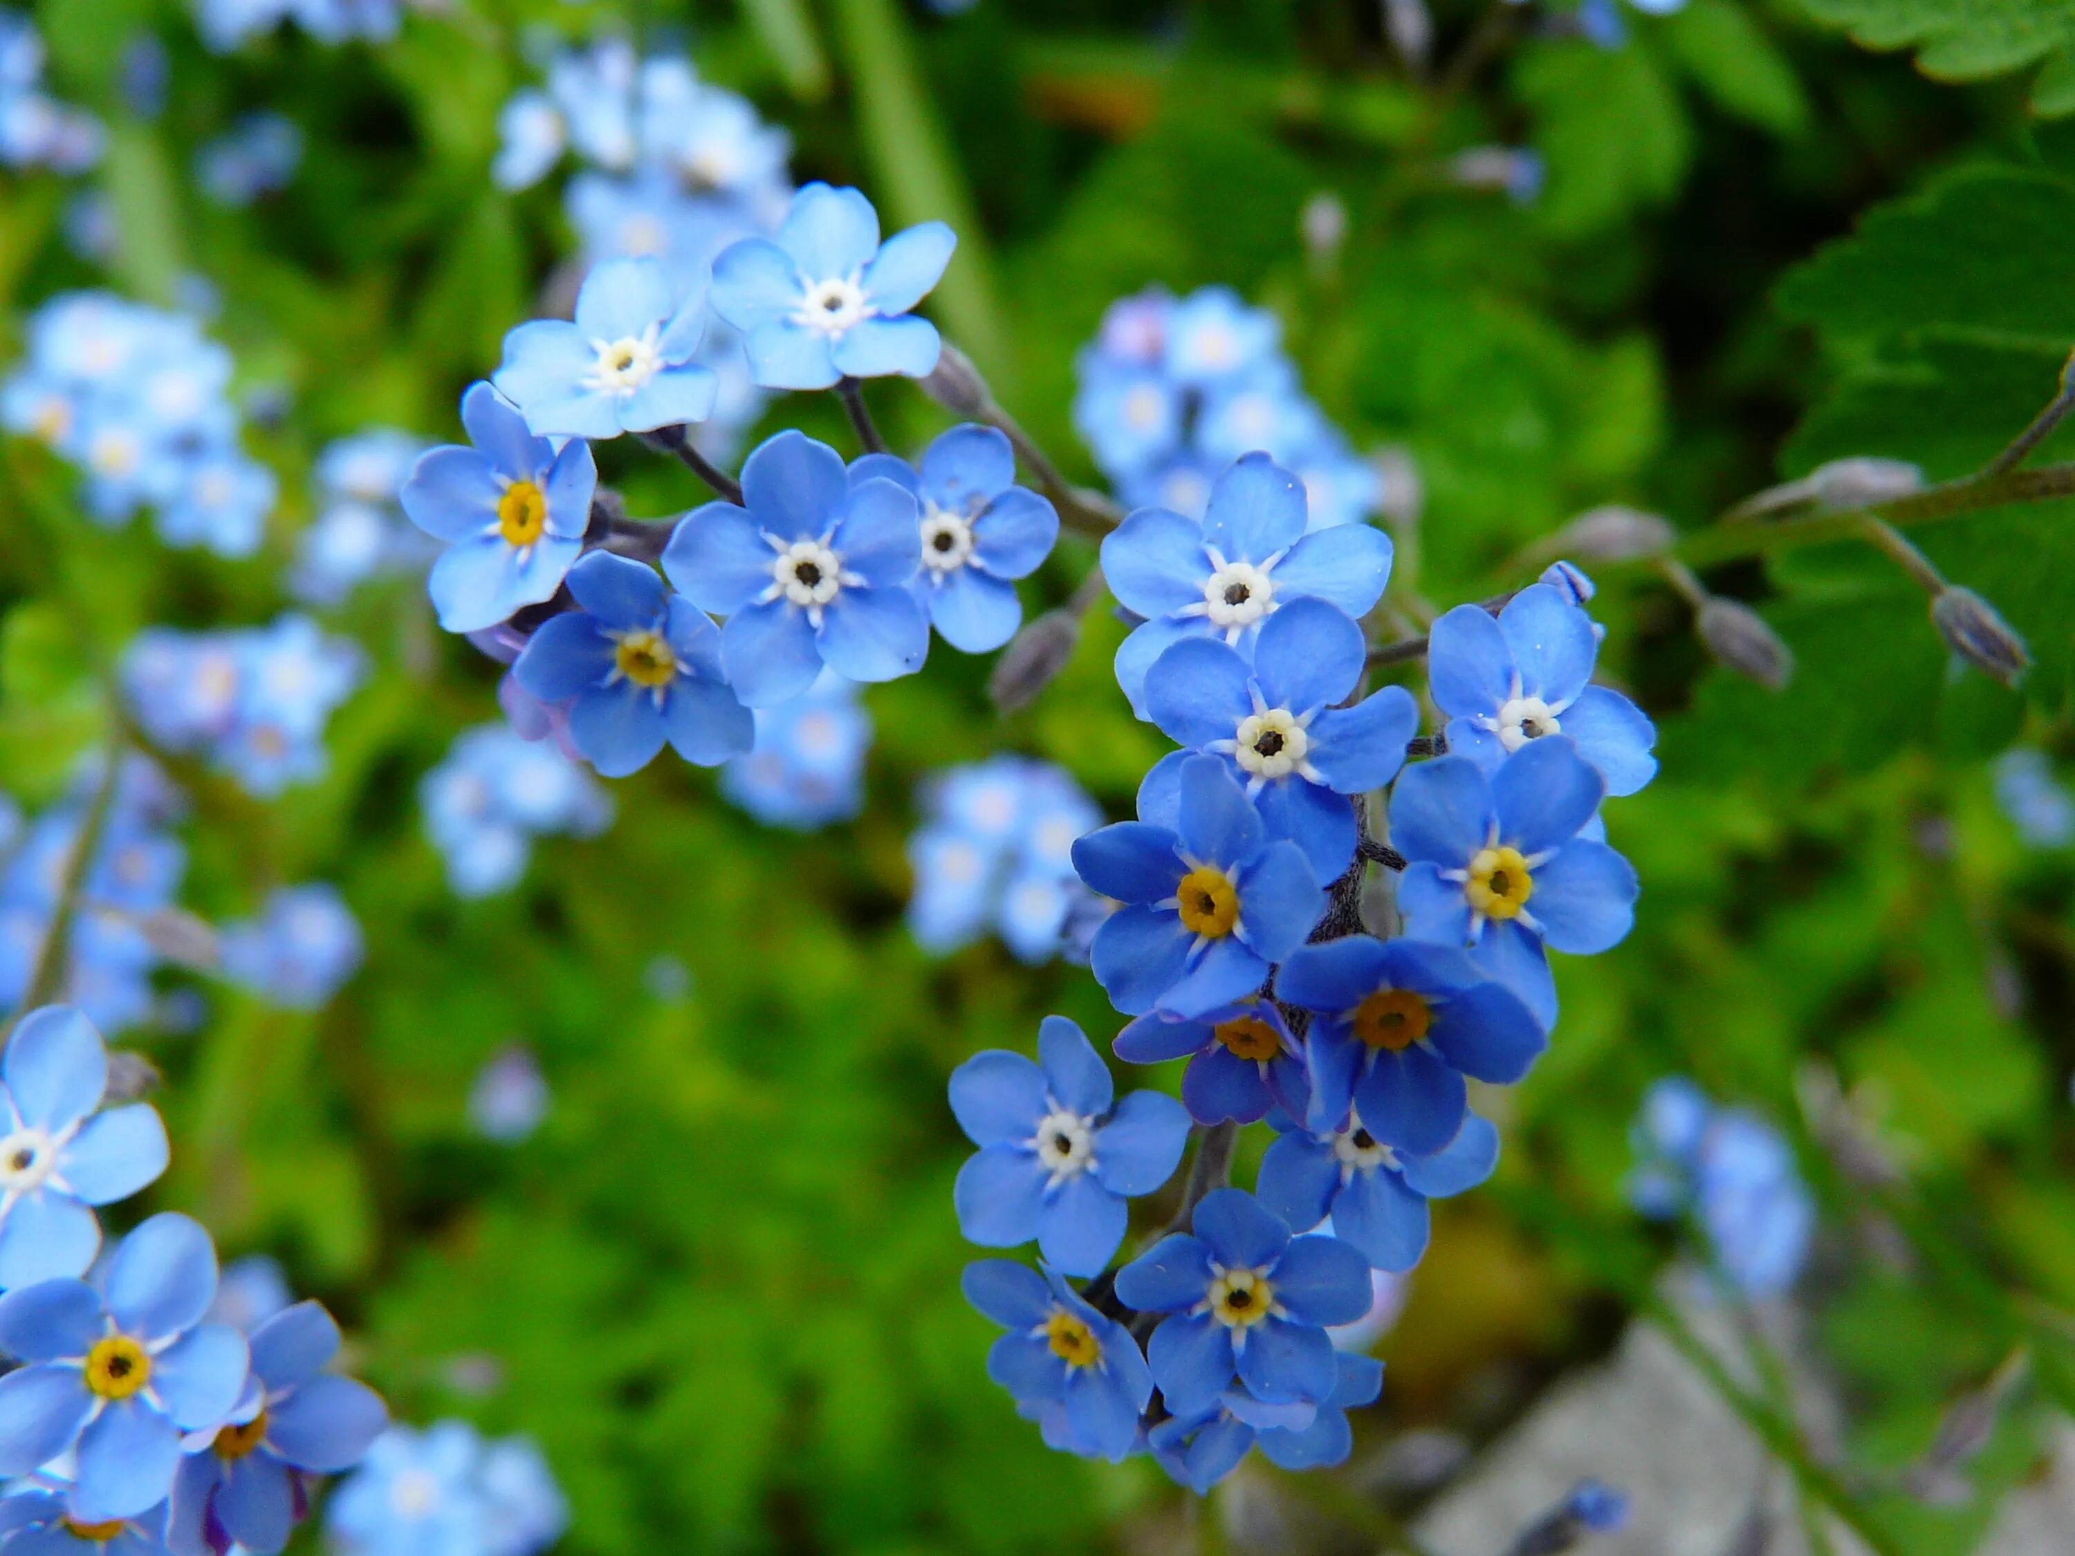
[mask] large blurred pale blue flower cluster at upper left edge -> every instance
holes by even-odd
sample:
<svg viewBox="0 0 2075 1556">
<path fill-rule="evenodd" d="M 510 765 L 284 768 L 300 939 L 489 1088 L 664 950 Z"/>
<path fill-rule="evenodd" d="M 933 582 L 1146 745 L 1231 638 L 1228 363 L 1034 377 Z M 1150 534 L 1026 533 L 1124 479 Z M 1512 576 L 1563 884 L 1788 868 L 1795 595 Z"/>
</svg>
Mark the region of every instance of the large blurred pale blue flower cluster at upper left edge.
<svg viewBox="0 0 2075 1556">
<path fill-rule="evenodd" d="M 29 319 L 29 357 L 0 384 L 0 425 L 85 471 L 87 515 L 156 515 L 168 546 L 251 556 L 274 473 L 239 446 L 230 353 L 185 313 L 112 293 L 64 293 Z"/>
</svg>

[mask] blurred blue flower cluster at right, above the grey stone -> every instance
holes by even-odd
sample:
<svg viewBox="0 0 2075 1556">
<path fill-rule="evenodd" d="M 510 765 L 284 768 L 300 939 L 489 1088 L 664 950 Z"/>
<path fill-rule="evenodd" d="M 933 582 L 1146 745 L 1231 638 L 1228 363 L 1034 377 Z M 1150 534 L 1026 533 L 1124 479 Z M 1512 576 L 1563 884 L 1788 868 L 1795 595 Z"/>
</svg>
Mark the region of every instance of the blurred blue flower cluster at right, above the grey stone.
<svg viewBox="0 0 2075 1556">
<path fill-rule="evenodd" d="M 1716 1108 L 1685 1077 L 1650 1087 L 1629 1133 L 1629 1201 L 1652 1220 L 1691 1214 L 1735 1290 L 1785 1297 L 1807 1261 L 1816 1201 L 1780 1133 L 1743 1108 Z"/>
</svg>

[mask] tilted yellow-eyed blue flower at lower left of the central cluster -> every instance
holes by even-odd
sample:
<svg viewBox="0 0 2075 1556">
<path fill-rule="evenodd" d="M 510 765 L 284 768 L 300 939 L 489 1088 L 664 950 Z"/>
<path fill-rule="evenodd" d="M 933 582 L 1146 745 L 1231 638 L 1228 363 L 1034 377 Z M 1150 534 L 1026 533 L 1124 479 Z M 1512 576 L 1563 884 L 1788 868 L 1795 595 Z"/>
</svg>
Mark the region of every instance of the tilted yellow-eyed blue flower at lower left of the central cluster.
<svg viewBox="0 0 2075 1556">
<path fill-rule="evenodd" d="M 1123 1463 L 1154 1396 L 1131 1330 L 1050 1270 L 1040 1276 L 1008 1259 L 979 1259 L 959 1284 L 965 1301 L 1006 1326 L 988 1353 L 988 1378 L 1035 1413 L 1046 1446 Z"/>
</svg>

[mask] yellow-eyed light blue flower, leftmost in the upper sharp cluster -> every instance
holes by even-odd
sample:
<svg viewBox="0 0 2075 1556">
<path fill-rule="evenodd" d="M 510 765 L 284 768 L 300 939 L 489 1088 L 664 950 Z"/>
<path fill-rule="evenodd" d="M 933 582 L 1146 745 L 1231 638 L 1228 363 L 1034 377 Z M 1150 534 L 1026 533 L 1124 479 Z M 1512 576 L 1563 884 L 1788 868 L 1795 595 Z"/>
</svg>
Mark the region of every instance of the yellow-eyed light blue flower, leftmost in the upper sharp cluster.
<svg viewBox="0 0 2075 1556">
<path fill-rule="evenodd" d="M 490 384 L 461 396 L 475 448 L 434 448 L 398 502 L 419 529 L 448 541 L 427 589 L 450 633 L 496 627 L 562 587 L 591 523 L 598 467 L 581 440 L 556 450 L 527 432 Z"/>
</svg>

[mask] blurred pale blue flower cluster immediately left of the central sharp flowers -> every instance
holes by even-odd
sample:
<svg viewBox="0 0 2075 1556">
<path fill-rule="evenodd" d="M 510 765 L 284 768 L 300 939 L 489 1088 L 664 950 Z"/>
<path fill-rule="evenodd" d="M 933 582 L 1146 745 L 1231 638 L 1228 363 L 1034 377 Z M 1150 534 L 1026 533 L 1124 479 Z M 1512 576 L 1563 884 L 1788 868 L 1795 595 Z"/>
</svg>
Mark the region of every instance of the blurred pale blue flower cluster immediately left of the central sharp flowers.
<svg viewBox="0 0 2075 1556">
<path fill-rule="evenodd" d="M 930 780 L 923 813 L 909 838 L 915 940 L 944 952 L 992 927 L 1027 963 L 1058 956 L 1075 907 L 1091 900 L 1073 844 L 1102 813 L 1081 786 L 1048 761 L 992 757 Z"/>
</svg>

